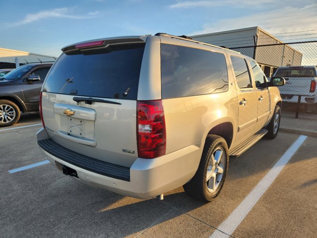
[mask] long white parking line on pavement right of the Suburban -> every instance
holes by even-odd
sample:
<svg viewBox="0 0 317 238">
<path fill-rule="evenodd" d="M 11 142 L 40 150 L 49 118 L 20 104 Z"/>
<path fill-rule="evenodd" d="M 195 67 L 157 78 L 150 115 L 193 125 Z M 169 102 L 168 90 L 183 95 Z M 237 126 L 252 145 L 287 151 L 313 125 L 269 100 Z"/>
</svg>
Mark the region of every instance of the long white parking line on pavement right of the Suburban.
<svg viewBox="0 0 317 238">
<path fill-rule="evenodd" d="M 210 238 L 228 238 L 237 229 L 239 224 L 248 215 L 254 205 L 259 201 L 267 188 L 276 179 L 278 174 L 285 167 L 287 162 L 296 153 L 299 147 L 306 140 L 306 135 L 301 135 L 294 144 L 284 153 L 276 162 L 273 168 L 264 176 L 258 185 L 249 193 L 249 195 L 240 203 L 240 205 L 230 214 L 230 216 L 212 233 Z"/>
</svg>

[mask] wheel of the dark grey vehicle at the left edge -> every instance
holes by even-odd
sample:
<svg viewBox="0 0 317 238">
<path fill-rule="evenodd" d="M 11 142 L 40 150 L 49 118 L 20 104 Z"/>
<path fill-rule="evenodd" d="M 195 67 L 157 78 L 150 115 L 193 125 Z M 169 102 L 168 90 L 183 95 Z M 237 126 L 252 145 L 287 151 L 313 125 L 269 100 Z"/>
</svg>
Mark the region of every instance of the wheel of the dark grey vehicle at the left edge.
<svg viewBox="0 0 317 238">
<path fill-rule="evenodd" d="M 21 116 L 19 107 L 8 100 L 0 100 L 0 126 L 9 126 L 16 123 Z"/>
</svg>

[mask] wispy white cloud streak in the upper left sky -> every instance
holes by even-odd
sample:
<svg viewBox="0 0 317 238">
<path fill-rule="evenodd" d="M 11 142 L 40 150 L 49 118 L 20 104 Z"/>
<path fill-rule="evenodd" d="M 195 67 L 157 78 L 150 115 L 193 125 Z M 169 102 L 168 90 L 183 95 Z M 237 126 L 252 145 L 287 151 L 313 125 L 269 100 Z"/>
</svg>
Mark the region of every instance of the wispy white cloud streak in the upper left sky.
<svg viewBox="0 0 317 238">
<path fill-rule="evenodd" d="M 19 26 L 25 25 L 34 21 L 38 21 L 45 18 L 72 18 L 72 19 L 86 19 L 86 18 L 93 18 L 99 12 L 89 12 L 88 15 L 74 15 L 73 8 L 62 7 L 62 8 L 54 8 L 50 10 L 43 10 L 33 14 L 27 14 L 24 19 L 21 21 L 17 21 L 14 23 L 9 23 L 9 26 Z"/>
</svg>

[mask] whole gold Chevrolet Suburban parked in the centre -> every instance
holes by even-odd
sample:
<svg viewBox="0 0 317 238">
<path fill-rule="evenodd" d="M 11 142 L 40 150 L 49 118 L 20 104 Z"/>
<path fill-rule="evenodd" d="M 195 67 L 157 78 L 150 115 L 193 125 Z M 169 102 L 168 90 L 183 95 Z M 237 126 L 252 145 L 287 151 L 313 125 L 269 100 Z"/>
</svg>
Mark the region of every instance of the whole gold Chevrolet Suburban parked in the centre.
<svg viewBox="0 0 317 238">
<path fill-rule="evenodd" d="M 158 33 L 66 46 L 42 88 L 38 144 L 63 174 L 137 198 L 220 192 L 229 156 L 277 135 L 281 97 L 257 62 Z"/>
</svg>

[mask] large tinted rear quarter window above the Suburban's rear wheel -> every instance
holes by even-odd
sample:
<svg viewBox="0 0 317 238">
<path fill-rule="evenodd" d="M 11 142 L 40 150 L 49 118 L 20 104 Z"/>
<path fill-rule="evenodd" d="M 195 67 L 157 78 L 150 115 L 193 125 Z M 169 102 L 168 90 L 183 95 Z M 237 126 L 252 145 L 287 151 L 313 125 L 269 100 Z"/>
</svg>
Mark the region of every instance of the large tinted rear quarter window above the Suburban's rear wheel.
<svg viewBox="0 0 317 238">
<path fill-rule="evenodd" d="M 228 90 L 223 54 L 161 44 L 162 98 L 177 98 Z"/>
</svg>

